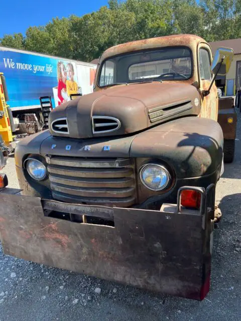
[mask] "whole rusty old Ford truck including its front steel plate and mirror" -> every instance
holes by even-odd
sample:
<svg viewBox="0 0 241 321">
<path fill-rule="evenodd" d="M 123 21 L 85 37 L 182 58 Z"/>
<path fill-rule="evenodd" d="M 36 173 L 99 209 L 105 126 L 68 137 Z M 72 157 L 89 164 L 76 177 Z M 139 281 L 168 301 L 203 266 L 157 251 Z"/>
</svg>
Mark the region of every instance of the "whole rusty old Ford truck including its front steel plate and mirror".
<svg viewBox="0 0 241 321">
<path fill-rule="evenodd" d="M 0 193 L 5 253 L 203 299 L 223 171 L 213 82 L 232 55 L 219 49 L 211 66 L 193 35 L 106 50 L 94 92 L 16 147 L 21 192 Z"/>
</svg>

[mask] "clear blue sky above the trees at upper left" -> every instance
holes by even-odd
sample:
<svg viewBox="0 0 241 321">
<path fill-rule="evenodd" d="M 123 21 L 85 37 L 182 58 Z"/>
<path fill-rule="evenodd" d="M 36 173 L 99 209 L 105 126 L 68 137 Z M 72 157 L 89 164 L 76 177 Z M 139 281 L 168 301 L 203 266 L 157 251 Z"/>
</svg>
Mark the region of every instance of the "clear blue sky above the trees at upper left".
<svg viewBox="0 0 241 321">
<path fill-rule="evenodd" d="M 0 38 L 29 27 L 46 25 L 52 18 L 83 16 L 106 6 L 108 0 L 0 0 Z"/>
</svg>

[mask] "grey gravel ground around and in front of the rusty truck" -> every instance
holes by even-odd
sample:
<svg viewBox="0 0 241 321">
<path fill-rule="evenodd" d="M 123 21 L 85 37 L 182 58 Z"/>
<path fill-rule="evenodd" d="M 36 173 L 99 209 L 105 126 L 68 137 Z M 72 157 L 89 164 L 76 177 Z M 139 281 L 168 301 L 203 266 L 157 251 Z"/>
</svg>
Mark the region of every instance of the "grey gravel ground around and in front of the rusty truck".
<svg viewBox="0 0 241 321">
<path fill-rule="evenodd" d="M 27 262 L 0 250 L 0 321 L 241 319 L 241 125 L 238 111 L 235 161 L 217 188 L 223 218 L 214 234 L 211 289 L 193 301 L 123 286 Z M 14 158 L 5 169 L 18 187 Z"/>
</svg>

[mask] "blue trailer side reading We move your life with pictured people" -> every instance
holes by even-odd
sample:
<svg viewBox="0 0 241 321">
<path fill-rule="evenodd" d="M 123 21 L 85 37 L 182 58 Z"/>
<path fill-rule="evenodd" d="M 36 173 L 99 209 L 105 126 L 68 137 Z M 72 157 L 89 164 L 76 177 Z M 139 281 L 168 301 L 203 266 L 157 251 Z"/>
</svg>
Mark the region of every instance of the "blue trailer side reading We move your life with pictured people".
<svg viewBox="0 0 241 321">
<path fill-rule="evenodd" d="M 63 69 L 66 79 L 62 81 Z M 69 69 L 73 70 L 72 81 L 76 83 L 78 92 L 92 92 L 96 65 L 0 47 L 0 72 L 6 77 L 8 104 L 13 111 L 40 108 L 41 96 L 51 96 L 53 107 L 68 100 L 69 96 L 64 96 L 64 92 L 62 95 L 59 86 L 61 81 L 62 87 L 66 86 Z"/>
</svg>

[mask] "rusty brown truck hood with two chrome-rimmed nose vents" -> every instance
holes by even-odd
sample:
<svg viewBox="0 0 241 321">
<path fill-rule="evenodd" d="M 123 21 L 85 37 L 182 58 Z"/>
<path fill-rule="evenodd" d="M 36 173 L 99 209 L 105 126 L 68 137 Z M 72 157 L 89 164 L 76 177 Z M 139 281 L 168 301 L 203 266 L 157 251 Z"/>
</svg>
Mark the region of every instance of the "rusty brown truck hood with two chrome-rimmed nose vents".
<svg viewBox="0 0 241 321">
<path fill-rule="evenodd" d="M 139 132 L 161 122 L 198 115 L 196 87 L 146 82 L 96 91 L 56 107 L 49 115 L 54 136 L 90 138 Z"/>
</svg>

